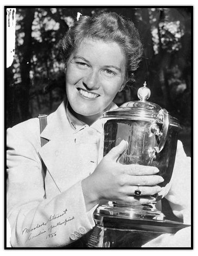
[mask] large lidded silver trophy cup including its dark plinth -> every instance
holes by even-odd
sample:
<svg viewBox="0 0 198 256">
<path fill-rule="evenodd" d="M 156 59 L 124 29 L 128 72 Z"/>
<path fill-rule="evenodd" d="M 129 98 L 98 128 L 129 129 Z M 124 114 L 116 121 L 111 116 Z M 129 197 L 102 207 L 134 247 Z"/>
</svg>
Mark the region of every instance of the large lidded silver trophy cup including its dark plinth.
<svg viewBox="0 0 198 256">
<path fill-rule="evenodd" d="M 120 108 L 103 114 L 103 156 L 122 140 L 128 141 L 127 152 L 120 158 L 123 165 L 155 166 L 164 181 L 162 191 L 153 195 L 156 202 L 170 189 L 181 129 L 179 121 L 155 103 L 148 102 L 150 90 L 138 89 L 140 101 L 124 103 Z M 136 191 L 141 193 L 141 191 Z M 109 202 L 97 208 L 96 227 L 89 236 L 88 247 L 141 247 L 163 233 L 175 233 L 186 227 L 180 222 L 166 220 L 156 208 L 156 202 L 129 205 Z"/>
</svg>

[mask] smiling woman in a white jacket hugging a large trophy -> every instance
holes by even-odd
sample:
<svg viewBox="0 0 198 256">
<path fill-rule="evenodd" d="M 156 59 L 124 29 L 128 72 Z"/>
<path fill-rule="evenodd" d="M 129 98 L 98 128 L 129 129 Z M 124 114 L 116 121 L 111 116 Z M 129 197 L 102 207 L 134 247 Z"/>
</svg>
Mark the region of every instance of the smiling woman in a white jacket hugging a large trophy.
<svg viewBox="0 0 198 256">
<path fill-rule="evenodd" d="M 81 16 L 69 28 L 63 40 L 67 99 L 47 117 L 42 132 L 38 118 L 8 129 L 7 218 L 12 247 L 76 247 L 75 242 L 95 226 L 93 213 L 102 200 L 129 205 L 156 200 L 152 195 L 161 191 L 158 184 L 163 182 L 159 169 L 117 161 L 126 153 L 127 141 L 98 163 L 100 117 L 117 108 L 114 97 L 134 80 L 141 54 L 134 24 L 115 13 Z M 42 146 L 41 139 L 48 143 Z M 178 154 L 177 162 L 188 163 L 181 145 Z M 188 186 L 188 166 L 182 161 L 182 179 Z M 176 183 L 183 188 L 180 177 Z M 136 195 L 137 187 L 141 195 Z M 178 207 L 175 198 L 181 193 L 175 190 L 170 199 L 183 218 L 189 200 L 181 200 Z"/>
</svg>

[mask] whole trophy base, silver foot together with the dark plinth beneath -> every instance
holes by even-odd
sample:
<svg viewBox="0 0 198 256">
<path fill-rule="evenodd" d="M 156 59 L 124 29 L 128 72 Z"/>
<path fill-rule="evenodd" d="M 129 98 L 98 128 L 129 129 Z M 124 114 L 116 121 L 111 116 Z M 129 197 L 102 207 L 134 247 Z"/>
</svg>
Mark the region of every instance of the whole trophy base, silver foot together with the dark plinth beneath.
<svg viewBox="0 0 198 256">
<path fill-rule="evenodd" d="M 94 214 L 96 226 L 67 247 L 142 247 L 160 235 L 175 234 L 190 226 L 164 218 L 165 216 L 155 208 L 155 204 L 102 205 Z"/>
</svg>

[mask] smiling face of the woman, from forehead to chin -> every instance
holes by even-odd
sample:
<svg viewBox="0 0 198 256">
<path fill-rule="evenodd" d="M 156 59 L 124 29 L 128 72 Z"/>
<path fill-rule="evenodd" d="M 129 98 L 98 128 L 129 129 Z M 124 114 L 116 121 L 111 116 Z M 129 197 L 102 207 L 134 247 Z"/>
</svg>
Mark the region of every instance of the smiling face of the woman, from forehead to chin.
<svg viewBox="0 0 198 256">
<path fill-rule="evenodd" d="M 66 91 L 72 113 L 95 122 L 124 88 L 126 57 L 121 47 L 84 39 L 72 52 L 66 68 Z"/>
</svg>

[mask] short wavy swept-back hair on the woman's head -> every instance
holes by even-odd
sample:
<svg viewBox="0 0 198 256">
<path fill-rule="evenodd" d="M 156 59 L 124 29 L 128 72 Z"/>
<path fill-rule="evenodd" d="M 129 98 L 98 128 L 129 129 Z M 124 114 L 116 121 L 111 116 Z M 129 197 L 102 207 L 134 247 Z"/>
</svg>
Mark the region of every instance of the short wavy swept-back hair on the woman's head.
<svg viewBox="0 0 198 256">
<path fill-rule="evenodd" d="M 143 47 L 133 22 L 115 12 L 103 12 L 95 17 L 81 16 L 69 28 L 62 41 L 62 58 L 66 64 L 72 51 L 84 38 L 118 43 L 127 59 L 126 81 L 135 81 L 134 71 L 141 61 Z"/>
</svg>

